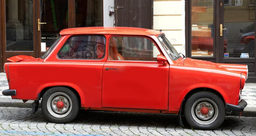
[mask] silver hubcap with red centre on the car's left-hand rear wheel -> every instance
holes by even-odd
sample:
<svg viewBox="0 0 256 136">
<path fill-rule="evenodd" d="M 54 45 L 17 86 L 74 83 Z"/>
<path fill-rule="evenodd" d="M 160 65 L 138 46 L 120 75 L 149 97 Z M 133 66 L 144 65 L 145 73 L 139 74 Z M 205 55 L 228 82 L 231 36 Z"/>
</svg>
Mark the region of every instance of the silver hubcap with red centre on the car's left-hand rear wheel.
<svg viewBox="0 0 256 136">
<path fill-rule="evenodd" d="M 71 99 L 67 94 L 56 92 L 47 100 L 47 109 L 53 117 L 66 117 L 72 109 Z"/>
</svg>

